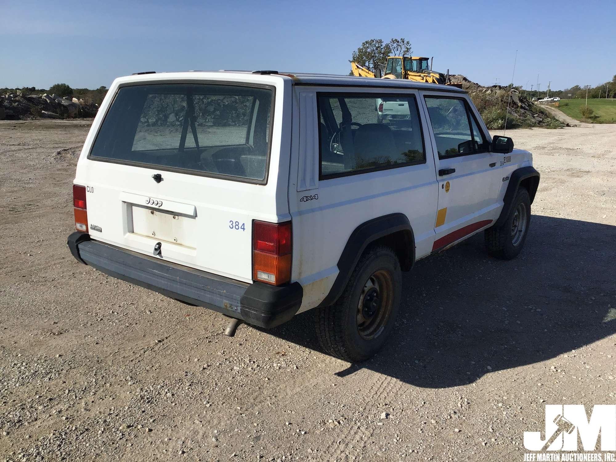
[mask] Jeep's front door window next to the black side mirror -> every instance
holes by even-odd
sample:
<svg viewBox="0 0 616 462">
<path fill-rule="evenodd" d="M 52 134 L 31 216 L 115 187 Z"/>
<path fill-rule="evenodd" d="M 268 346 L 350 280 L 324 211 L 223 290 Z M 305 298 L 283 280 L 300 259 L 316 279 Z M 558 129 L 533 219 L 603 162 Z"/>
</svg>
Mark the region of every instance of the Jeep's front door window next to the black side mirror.
<svg viewBox="0 0 616 462">
<path fill-rule="evenodd" d="M 426 96 L 426 106 L 440 158 L 485 150 L 485 139 L 464 99 Z"/>
</svg>

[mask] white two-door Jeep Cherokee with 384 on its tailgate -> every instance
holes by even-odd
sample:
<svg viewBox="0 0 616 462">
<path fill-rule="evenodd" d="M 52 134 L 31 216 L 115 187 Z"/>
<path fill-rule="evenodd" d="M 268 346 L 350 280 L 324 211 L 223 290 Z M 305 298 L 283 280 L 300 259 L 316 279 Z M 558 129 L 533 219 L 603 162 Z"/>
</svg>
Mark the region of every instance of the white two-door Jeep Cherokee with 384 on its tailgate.
<svg viewBox="0 0 616 462">
<path fill-rule="evenodd" d="M 406 113 L 381 124 L 381 102 Z M 314 309 L 323 349 L 359 361 L 391 333 L 418 259 L 482 230 L 488 253 L 516 256 L 538 184 L 532 155 L 491 138 L 456 87 L 145 73 L 116 79 L 92 124 L 68 246 L 256 326 Z"/>
</svg>

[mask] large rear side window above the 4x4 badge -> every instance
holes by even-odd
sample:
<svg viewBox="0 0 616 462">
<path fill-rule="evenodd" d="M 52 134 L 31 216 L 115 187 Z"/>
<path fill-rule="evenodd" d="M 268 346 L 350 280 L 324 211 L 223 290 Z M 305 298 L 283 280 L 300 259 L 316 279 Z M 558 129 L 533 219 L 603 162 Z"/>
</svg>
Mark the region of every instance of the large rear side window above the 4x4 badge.
<svg viewBox="0 0 616 462">
<path fill-rule="evenodd" d="M 320 178 L 424 163 L 413 95 L 318 94 Z"/>
</svg>

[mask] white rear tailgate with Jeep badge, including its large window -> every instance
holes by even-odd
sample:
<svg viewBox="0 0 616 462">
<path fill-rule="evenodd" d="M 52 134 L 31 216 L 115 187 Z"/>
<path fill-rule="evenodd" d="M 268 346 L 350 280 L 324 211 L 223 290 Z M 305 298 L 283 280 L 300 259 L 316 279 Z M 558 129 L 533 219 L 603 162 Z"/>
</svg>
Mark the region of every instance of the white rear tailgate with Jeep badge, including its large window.
<svg viewBox="0 0 616 462">
<path fill-rule="evenodd" d="M 288 219 L 286 193 L 280 200 L 277 189 L 286 190 L 288 180 L 289 129 L 282 124 L 290 84 L 252 75 L 225 75 L 221 83 L 214 74 L 209 85 L 210 74 L 198 81 L 189 75 L 190 84 L 181 73 L 123 78 L 111 87 L 75 179 L 87 187 L 89 233 L 148 255 L 160 243 L 162 259 L 251 282 L 253 220 Z M 238 85 L 239 96 L 209 90 L 235 92 Z M 252 86 L 271 90 L 269 110 L 264 99 L 260 113 L 259 102 L 238 109 Z M 139 92 L 145 103 L 134 102 Z M 267 139 L 259 138 L 259 124 Z"/>
</svg>

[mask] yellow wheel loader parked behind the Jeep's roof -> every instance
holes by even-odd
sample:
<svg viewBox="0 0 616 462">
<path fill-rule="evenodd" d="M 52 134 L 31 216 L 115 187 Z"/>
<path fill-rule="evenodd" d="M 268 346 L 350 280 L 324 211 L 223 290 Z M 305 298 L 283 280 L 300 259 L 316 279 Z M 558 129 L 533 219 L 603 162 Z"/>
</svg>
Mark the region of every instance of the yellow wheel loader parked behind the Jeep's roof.
<svg viewBox="0 0 616 462">
<path fill-rule="evenodd" d="M 408 79 L 415 82 L 436 83 L 447 85 L 448 76 L 432 70 L 430 59 L 425 57 L 389 56 L 385 65 L 385 73 L 381 77 L 381 70 L 376 73 L 359 65 L 351 63 L 351 70 L 357 77 L 381 77 L 384 79 Z"/>
</svg>

